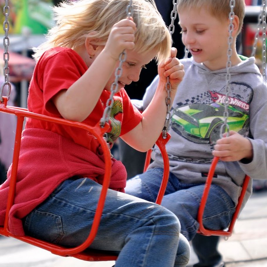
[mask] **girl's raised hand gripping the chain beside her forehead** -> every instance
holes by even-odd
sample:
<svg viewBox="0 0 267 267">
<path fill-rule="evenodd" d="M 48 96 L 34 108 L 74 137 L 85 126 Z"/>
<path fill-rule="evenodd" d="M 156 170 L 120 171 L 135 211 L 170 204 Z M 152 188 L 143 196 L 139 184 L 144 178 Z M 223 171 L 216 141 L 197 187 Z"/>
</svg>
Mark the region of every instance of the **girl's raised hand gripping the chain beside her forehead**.
<svg viewBox="0 0 267 267">
<path fill-rule="evenodd" d="M 105 50 L 114 60 L 119 60 L 119 55 L 124 49 L 134 49 L 136 24 L 132 17 L 115 23 L 109 33 Z"/>
</svg>

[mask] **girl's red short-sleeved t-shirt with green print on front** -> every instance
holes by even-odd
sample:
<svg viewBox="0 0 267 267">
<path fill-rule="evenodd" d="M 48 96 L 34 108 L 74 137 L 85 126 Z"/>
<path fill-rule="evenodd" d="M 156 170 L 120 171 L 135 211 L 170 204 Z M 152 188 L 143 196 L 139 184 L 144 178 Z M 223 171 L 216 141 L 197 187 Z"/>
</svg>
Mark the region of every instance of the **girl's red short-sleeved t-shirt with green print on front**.
<svg viewBox="0 0 267 267">
<path fill-rule="evenodd" d="M 37 62 L 30 83 L 28 109 L 29 111 L 53 117 L 61 117 L 54 103 L 54 97 L 59 91 L 68 89 L 88 69 L 83 59 L 72 49 L 56 47 L 45 52 Z M 90 88 L 88 88 L 90 94 Z M 83 123 L 95 126 L 103 115 L 110 92 L 103 90 L 93 112 Z M 122 134 L 133 129 L 142 119 L 141 113 L 131 104 L 124 89 L 114 95 L 111 109 L 111 126 L 109 142 L 112 144 Z M 93 152 L 98 147 L 97 140 L 88 136 L 88 132 L 78 128 L 53 124 L 36 119 L 28 119 L 26 128 L 41 128 L 58 133 L 75 143 L 85 146 Z"/>
</svg>

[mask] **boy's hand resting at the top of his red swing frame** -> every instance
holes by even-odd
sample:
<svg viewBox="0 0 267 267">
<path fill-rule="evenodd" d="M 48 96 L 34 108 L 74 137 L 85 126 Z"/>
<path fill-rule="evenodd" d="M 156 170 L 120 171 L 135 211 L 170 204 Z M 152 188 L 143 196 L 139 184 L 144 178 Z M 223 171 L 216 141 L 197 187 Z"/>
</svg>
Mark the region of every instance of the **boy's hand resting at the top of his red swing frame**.
<svg viewBox="0 0 267 267">
<path fill-rule="evenodd" d="M 226 136 L 226 133 L 223 136 Z M 253 158 L 253 148 L 247 138 L 235 131 L 229 131 L 228 137 L 217 140 L 212 154 L 222 161 L 238 161 L 242 158 L 251 160 Z"/>
</svg>

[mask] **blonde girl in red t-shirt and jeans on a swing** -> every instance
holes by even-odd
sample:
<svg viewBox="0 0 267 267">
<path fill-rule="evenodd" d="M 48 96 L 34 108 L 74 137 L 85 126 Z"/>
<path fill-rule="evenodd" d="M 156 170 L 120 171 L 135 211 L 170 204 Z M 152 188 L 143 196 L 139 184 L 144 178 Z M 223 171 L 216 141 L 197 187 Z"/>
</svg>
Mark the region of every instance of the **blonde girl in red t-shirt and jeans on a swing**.
<svg viewBox="0 0 267 267">
<path fill-rule="evenodd" d="M 126 0 L 80 0 L 54 8 L 57 23 L 47 42 L 36 49 L 28 109 L 94 126 L 109 100 L 119 55 L 125 50 L 107 141 L 112 146 L 121 136 L 146 151 L 164 125 L 167 77 L 174 97 L 184 70 L 155 6 L 134 0 L 132 17 L 126 18 L 128 5 Z M 159 61 L 160 83 L 141 114 L 131 105 L 124 85 L 137 81 L 153 58 Z M 98 141 L 85 130 L 28 119 L 20 151 L 10 231 L 70 247 L 84 242 L 102 188 L 105 164 Z M 125 168 L 112 162 L 111 189 L 90 248 L 119 251 L 116 267 L 185 266 L 189 244 L 179 236 L 177 217 L 162 206 L 123 193 Z M 9 179 L 0 187 L 0 225 L 8 185 Z"/>
</svg>

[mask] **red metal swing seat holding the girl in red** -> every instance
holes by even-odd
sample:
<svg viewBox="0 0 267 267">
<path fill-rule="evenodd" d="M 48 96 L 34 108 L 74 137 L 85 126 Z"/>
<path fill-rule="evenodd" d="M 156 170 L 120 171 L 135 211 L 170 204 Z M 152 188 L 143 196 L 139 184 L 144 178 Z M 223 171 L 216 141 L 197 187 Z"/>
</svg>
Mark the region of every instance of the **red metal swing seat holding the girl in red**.
<svg viewBox="0 0 267 267">
<path fill-rule="evenodd" d="M 110 175 L 111 175 L 110 150 L 109 150 L 107 142 L 103 138 L 103 135 L 106 133 L 106 131 L 110 127 L 109 124 L 106 123 L 103 127 L 101 127 L 100 123 L 98 123 L 96 126 L 91 127 L 80 122 L 68 121 L 65 119 L 54 118 L 54 117 L 49 117 L 49 116 L 45 116 L 42 114 L 29 112 L 25 108 L 7 106 L 6 97 L 3 97 L 3 102 L 0 102 L 0 112 L 13 114 L 17 117 L 15 145 L 14 145 L 14 152 L 13 152 L 13 163 L 12 163 L 12 170 L 11 170 L 11 180 L 10 180 L 10 187 L 9 187 L 7 207 L 6 207 L 6 217 L 4 221 L 4 226 L 0 226 L 0 235 L 16 238 L 23 242 L 32 244 L 36 247 L 40 247 L 42 249 L 48 250 L 51 253 L 59 255 L 59 256 L 71 256 L 71 257 L 81 259 L 84 261 L 115 261 L 117 259 L 117 255 L 114 254 L 112 251 L 88 249 L 88 247 L 93 242 L 96 236 L 98 225 L 100 223 L 100 219 L 102 216 L 102 210 L 105 204 L 107 189 L 109 188 L 109 181 L 110 181 Z M 68 248 L 68 247 L 63 247 L 60 245 L 52 244 L 52 243 L 49 243 L 49 242 L 46 242 L 40 239 L 36 239 L 30 236 L 16 236 L 16 235 L 11 234 L 11 232 L 8 229 L 9 211 L 14 203 L 15 192 L 16 192 L 16 176 L 17 176 L 18 164 L 19 164 L 18 159 L 19 159 L 19 152 L 20 152 L 21 134 L 23 130 L 23 122 L 24 122 L 24 118 L 27 118 L 27 117 L 87 130 L 97 138 L 100 145 L 102 146 L 102 150 L 104 153 L 104 160 L 105 160 L 105 174 L 104 174 L 104 179 L 103 179 L 103 184 L 102 184 L 102 190 L 100 193 L 100 197 L 99 197 L 99 201 L 98 201 L 97 208 L 95 211 L 95 216 L 94 216 L 94 220 L 93 220 L 90 233 L 87 239 L 85 240 L 85 242 L 77 247 Z M 163 153 L 163 157 L 165 158 L 165 162 L 166 162 L 166 167 L 165 167 L 166 173 L 163 175 L 162 185 L 160 187 L 159 195 L 156 201 L 156 203 L 158 204 L 161 203 L 162 197 L 164 196 L 164 192 L 165 192 L 167 182 L 168 182 L 168 177 L 169 177 L 168 155 L 167 155 L 166 150 L 164 150 L 165 143 L 169 139 L 170 139 L 170 136 L 168 136 L 168 138 L 166 139 L 163 139 L 160 136 L 158 141 L 156 142 L 156 144 L 160 147 Z"/>
</svg>

